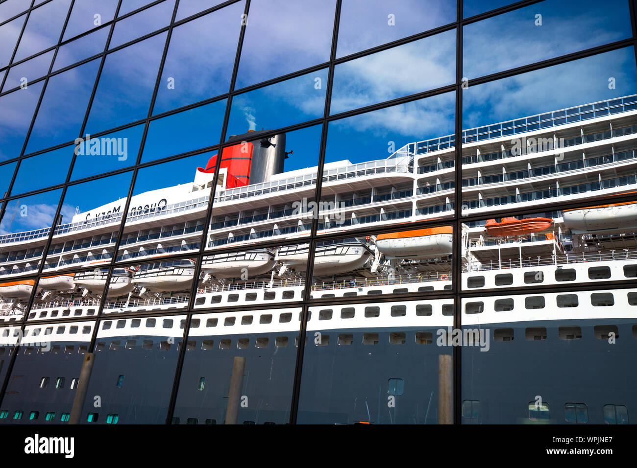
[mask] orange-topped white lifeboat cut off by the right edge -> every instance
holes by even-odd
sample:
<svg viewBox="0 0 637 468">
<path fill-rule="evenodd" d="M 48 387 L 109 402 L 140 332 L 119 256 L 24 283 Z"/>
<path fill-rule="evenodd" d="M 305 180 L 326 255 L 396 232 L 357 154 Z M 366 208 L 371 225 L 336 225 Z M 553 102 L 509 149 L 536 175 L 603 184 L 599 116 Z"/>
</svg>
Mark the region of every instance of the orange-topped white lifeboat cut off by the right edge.
<svg viewBox="0 0 637 468">
<path fill-rule="evenodd" d="M 565 209 L 562 216 L 573 234 L 633 230 L 637 229 L 637 202 Z"/>
</svg>

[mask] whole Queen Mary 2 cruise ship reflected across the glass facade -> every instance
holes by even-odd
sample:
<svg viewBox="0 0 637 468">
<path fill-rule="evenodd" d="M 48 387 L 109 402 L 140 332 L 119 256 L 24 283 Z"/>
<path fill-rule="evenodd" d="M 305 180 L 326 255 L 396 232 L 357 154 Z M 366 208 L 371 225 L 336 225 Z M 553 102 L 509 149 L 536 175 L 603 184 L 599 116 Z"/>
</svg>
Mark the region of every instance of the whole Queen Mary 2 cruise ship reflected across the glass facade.
<svg viewBox="0 0 637 468">
<path fill-rule="evenodd" d="M 483 220 L 462 224 L 459 280 L 466 291 L 501 289 L 500 295 L 457 304 L 462 327 L 487 335 L 480 346 L 462 349 L 464 423 L 637 421 L 637 378 L 626 372 L 637 358 L 637 284 L 627 290 L 594 284 L 637 278 L 636 132 L 637 96 L 463 131 L 462 215 L 483 215 Z M 327 162 L 318 196 L 317 167 L 284 170 L 289 157 L 285 137 L 248 132 L 229 139 L 197 278 L 195 260 L 173 257 L 201 248 L 218 155 L 192 168 L 190 184 L 134 195 L 117 253 L 125 200 L 78 212 L 71 222 L 57 225 L 46 255 L 51 228 L 0 236 L 0 320 L 18 322 L 25 314 L 28 320 L 90 318 L 106 295 L 104 313 L 113 318 L 101 322 L 96 352 L 120 350 L 120 368 L 111 366 L 103 377 L 110 382 L 132 374 L 122 370 L 131 365 L 127 352 L 155 350 L 165 353 L 159 366 L 174 364 L 185 323 L 185 315 L 155 321 L 118 320 L 116 314 L 185 310 L 194 292 L 194 308 L 204 313 L 192 320 L 187 350 L 194 356 L 232 349 L 250 362 L 261 362 L 252 372 L 268 383 L 254 377 L 250 385 L 265 387 L 260 391 L 271 398 L 259 409 L 241 409 L 241 415 L 246 423 L 285 423 L 301 320 L 301 309 L 291 303 L 303 301 L 310 281 L 313 299 L 369 301 L 310 307 L 298 421 L 436 423 L 432 397 L 438 388 L 437 356 L 451 353 L 451 348 L 441 349 L 440 330 L 451 332 L 454 301 L 429 298 L 427 292 L 452 287 L 453 227 L 410 223 L 444 224 L 453 215 L 454 136 L 409 142 L 389 157 L 380 157 L 379 151 L 379 158 L 368 162 Z M 603 195 L 631 193 L 634 201 L 599 202 Z M 538 201 L 574 199 L 582 201 L 582 208 L 498 217 L 502 209 L 527 213 Z M 586 204 L 587 199 L 596 201 Z M 318 235 L 340 237 L 319 240 L 310 252 L 307 238 L 317 217 Z M 392 225 L 395 230 L 387 232 Z M 375 227 L 376 234 L 350 232 L 373 232 Z M 107 287 L 113 255 L 125 266 L 115 264 Z M 314 260 L 308 278 L 310 255 Z M 43 278 L 36 281 L 33 275 L 42 262 Z M 532 289 L 576 283 L 588 289 L 541 295 Z M 512 294 L 512 288 L 529 290 Z M 422 299 L 375 302 L 372 297 L 408 292 L 422 292 Z M 285 302 L 290 307 L 280 308 Z M 240 310 L 255 304 L 262 310 Z M 233 311 L 225 311 L 227 306 Z M 220 311 L 208 311 L 215 308 Z M 80 362 L 92 325 L 76 323 L 79 329 L 58 323 L 27 325 L 25 350 L 47 334 L 47 342 L 58 349 L 66 352 L 71 346 L 69 354 Z M 78 332 L 82 326 L 83 334 Z M 15 342 L 14 329 L 6 327 L 2 344 Z M 171 347 L 169 337 L 177 345 Z M 481 352 L 485 347 L 489 352 Z M 372 349 L 377 358 L 383 356 L 373 375 L 357 364 Z M 292 371 L 279 369 L 276 381 L 266 377 L 274 353 L 292 365 Z M 189 367 L 194 359 L 186 358 L 183 372 L 198 379 Z M 231 360 L 223 365 L 225 375 Z M 347 375 L 348 388 L 359 397 L 355 409 L 351 402 L 325 401 L 334 385 L 325 378 L 326 366 L 332 374 Z M 170 386 L 172 371 L 166 374 L 164 383 Z M 617 379 L 609 383 L 602 374 Z M 408 376 L 404 389 L 387 390 L 388 379 L 401 376 Z M 209 383 L 213 388 L 208 391 L 224 394 L 227 382 L 221 380 Z M 93 385 L 99 384 L 91 381 L 89 394 Z M 34 384 L 25 392 L 36 390 Z M 135 419 L 143 419 L 141 415 L 147 416 L 145 422 L 162 422 L 154 416 L 152 402 L 131 415 L 122 402 L 134 395 L 125 391 L 112 395 L 119 399 L 113 414 L 124 422 L 141 420 Z M 388 392 L 399 395 L 400 402 L 389 411 Z M 180 388 L 173 422 L 222 423 L 222 399 L 206 403 L 211 416 L 199 421 L 201 398 L 194 385 Z M 326 412 L 326 404 L 333 411 Z"/>
</svg>

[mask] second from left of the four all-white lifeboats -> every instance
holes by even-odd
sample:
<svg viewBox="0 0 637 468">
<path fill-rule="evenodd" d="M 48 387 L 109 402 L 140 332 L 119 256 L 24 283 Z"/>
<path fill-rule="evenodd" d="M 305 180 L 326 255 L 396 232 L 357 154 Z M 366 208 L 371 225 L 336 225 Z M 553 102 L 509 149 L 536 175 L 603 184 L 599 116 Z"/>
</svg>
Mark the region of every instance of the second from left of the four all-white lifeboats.
<svg viewBox="0 0 637 468">
<path fill-rule="evenodd" d="M 192 260 L 173 260 L 142 265 L 132 277 L 132 282 L 152 292 L 175 292 L 190 288 L 194 274 Z"/>
</svg>

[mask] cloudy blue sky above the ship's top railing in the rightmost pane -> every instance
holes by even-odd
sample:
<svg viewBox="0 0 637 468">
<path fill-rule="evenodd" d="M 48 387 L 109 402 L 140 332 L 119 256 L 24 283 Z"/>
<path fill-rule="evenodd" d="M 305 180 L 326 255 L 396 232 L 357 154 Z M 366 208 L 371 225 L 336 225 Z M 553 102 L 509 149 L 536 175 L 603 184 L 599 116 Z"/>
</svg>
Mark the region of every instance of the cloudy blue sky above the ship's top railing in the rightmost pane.
<svg viewBox="0 0 637 468">
<path fill-rule="evenodd" d="M 628 47 L 469 86 L 462 92 L 462 128 L 636 94 L 636 67 Z M 609 76 L 615 89 L 608 88 Z"/>
</svg>

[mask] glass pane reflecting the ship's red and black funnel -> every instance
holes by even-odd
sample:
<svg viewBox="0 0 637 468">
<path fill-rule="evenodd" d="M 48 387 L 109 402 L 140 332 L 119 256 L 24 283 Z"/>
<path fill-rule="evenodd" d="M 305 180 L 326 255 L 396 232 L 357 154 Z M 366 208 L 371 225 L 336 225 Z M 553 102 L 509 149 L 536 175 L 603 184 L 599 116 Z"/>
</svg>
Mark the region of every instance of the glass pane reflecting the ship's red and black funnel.
<svg viewBox="0 0 637 468">
<path fill-rule="evenodd" d="M 266 138 L 234 136 L 224 148 L 208 248 L 287 239 L 308 231 L 315 199 L 321 125 Z M 217 154 L 197 177 L 211 183 Z M 311 211 L 310 211 L 311 213 Z"/>
</svg>

